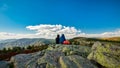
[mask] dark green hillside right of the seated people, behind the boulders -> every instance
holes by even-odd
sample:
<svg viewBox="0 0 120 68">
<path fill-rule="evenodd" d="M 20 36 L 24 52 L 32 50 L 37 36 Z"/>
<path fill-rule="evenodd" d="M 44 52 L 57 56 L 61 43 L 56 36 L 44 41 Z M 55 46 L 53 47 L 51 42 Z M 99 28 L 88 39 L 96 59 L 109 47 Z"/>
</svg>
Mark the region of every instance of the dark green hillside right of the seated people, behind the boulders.
<svg viewBox="0 0 120 68">
<path fill-rule="evenodd" d="M 120 38 L 118 38 L 120 39 Z M 120 41 L 116 40 L 105 40 L 105 39 L 101 39 L 101 38 L 86 38 L 86 37 L 75 37 L 73 39 L 70 39 L 69 41 L 71 42 L 71 44 L 74 45 L 90 45 L 92 46 L 94 42 L 99 41 L 99 42 L 103 42 L 103 43 L 113 43 L 118 45 L 120 43 Z"/>
</svg>

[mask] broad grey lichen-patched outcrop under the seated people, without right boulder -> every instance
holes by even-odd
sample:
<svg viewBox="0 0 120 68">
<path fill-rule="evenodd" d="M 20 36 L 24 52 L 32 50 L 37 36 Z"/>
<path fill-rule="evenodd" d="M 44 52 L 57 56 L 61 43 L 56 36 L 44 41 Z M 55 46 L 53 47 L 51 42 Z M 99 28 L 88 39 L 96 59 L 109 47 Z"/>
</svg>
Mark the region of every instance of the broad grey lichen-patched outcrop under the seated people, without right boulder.
<svg viewBox="0 0 120 68">
<path fill-rule="evenodd" d="M 15 68 L 97 68 L 85 58 L 90 51 L 85 46 L 55 45 L 36 53 L 13 56 L 11 62 Z"/>
</svg>

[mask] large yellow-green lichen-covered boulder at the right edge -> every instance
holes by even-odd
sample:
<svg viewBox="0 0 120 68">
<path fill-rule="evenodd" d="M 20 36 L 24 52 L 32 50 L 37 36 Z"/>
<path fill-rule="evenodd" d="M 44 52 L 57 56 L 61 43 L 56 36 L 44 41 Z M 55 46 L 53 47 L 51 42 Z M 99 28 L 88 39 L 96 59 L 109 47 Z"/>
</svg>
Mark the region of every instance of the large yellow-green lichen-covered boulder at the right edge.
<svg viewBox="0 0 120 68">
<path fill-rule="evenodd" d="M 107 68 L 120 68 L 120 46 L 96 42 L 87 58 Z"/>
</svg>

